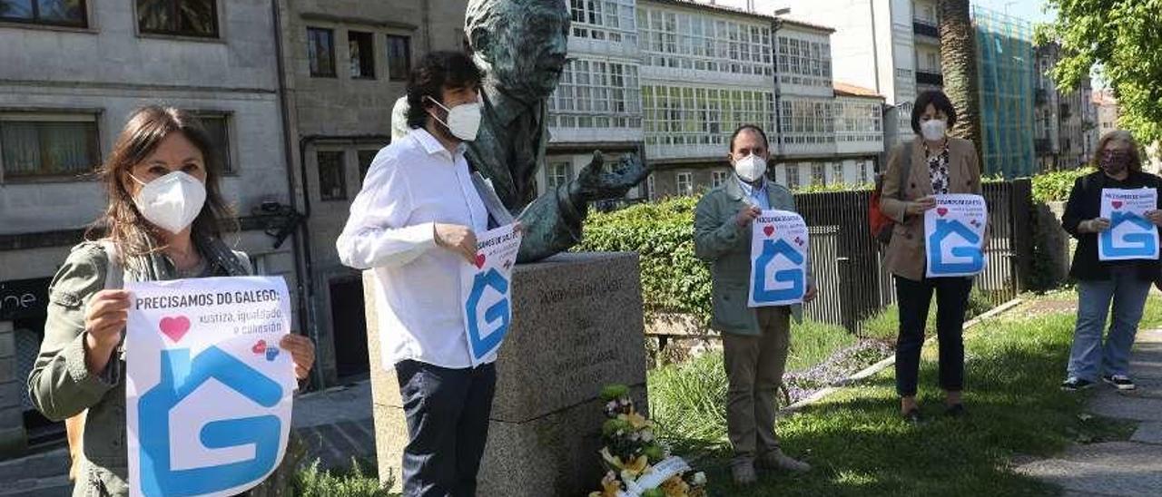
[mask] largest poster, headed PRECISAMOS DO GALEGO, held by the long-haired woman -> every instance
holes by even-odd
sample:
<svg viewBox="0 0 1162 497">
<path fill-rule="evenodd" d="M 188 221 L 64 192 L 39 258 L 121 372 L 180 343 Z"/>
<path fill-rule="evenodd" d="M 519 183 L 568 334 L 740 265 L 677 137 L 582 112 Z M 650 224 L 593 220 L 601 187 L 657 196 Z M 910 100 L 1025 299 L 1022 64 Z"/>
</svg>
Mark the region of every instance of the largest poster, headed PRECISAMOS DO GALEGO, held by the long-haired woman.
<svg viewBox="0 0 1162 497">
<path fill-rule="evenodd" d="M 132 496 L 232 496 L 290 433 L 294 366 L 282 278 L 128 282 L 125 422 Z"/>
</svg>

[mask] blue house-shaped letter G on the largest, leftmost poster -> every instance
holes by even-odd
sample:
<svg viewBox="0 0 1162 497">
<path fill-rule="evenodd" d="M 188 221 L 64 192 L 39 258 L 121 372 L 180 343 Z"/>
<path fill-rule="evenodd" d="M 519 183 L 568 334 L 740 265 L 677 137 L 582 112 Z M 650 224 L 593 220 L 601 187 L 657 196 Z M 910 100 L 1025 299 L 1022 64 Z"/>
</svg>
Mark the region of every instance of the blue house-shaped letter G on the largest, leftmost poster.
<svg viewBox="0 0 1162 497">
<path fill-rule="evenodd" d="M 189 360 L 188 348 L 162 352 L 162 382 L 137 401 L 141 440 L 141 491 L 146 496 L 192 496 L 251 483 L 274 469 L 281 423 L 277 416 L 207 423 L 200 439 L 207 448 L 252 445 L 254 458 L 220 466 L 173 469 L 170 412 L 202 383 L 217 380 L 254 403 L 272 408 L 282 387 L 246 363 L 209 347 Z"/>
</svg>

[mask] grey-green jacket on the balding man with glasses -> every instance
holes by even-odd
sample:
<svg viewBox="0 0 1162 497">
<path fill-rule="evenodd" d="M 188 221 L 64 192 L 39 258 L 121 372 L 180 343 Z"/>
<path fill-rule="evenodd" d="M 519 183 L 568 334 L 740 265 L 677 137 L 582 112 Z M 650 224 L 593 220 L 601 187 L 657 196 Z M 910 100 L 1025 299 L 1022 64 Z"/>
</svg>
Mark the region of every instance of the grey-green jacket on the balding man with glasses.
<svg viewBox="0 0 1162 497">
<path fill-rule="evenodd" d="M 772 209 L 795 211 L 795 196 L 781 185 L 767 180 L 767 199 Z M 751 283 L 751 226 L 739 228 L 734 222 L 746 204 L 743 187 L 737 178 L 710 192 L 698 201 L 694 211 L 694 253 L 710 262 L 713 286 L 715 330 L 760 334 L 755 310 L 747 305 Z M 753 226 L 753 223 L 752 223 Z M 811 259 L 808 258 L 808 286 L 812 286 Z M 803 305 L 791 305 L 796 322 L 803 320 Z"/>
</svg>

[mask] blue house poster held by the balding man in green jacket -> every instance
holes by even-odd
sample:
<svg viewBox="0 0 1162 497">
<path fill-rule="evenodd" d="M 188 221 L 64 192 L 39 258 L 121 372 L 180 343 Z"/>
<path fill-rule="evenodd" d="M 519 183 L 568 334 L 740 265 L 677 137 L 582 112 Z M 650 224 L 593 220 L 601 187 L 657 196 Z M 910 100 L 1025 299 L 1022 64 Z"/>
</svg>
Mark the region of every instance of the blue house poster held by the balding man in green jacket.
<svg viewBox="0 0 1162 497">
<path fill-rule="evenodd" d="M 749 307 L 802 303 L 811 254 L 803 217 L 763 210 L 752 226 Z"/>
</svg>

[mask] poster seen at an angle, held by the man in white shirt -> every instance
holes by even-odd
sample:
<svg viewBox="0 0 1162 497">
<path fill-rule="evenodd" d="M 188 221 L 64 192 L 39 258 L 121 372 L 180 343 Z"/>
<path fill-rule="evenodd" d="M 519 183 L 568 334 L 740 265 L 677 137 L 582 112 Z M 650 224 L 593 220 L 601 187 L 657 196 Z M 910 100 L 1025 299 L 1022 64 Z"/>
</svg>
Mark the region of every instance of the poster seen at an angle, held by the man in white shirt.
<svg viewBox="0 0 1162 497">
<path fill-rule="evenodd" d="M 476 258 L 460 271 L 461 309 L 472 365 L 492 361 L 512 322 L 512 267 L 521 250 L 516 224 L 476 237 Z"/>
</svg>

